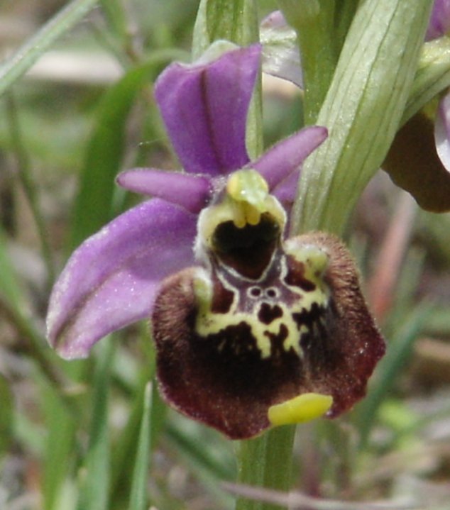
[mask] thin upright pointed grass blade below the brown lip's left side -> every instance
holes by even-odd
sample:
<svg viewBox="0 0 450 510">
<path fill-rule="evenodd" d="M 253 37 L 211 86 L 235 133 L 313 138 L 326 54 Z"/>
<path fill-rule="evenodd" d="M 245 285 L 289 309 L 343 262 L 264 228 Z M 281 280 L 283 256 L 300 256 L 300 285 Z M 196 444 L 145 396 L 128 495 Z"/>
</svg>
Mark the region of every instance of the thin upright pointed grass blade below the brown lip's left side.
<svg viewBox="0 0 450 510">
<path fill-rule="evenodd" d="M 146 510 L 148 508 L 147 478 L 150 458 L 150 432 L 152 414 L 152 394 L 155 390 L 150 382 L 144 392 L 143 416 L 141 431 L 139 431 L 138 450 L 133 470 L 133 483 L 131 485 L 131 498 L 129 510 Z"/>
</svg>

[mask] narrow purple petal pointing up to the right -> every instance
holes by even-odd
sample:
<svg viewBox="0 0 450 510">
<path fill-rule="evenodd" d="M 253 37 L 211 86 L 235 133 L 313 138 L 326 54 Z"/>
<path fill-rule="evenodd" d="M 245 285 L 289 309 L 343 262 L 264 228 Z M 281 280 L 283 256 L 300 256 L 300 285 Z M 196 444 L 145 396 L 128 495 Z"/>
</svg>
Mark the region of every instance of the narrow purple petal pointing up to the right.
<svg viewBox="0 0 450 510">
<path fill-rule="evenodd" d="M 267 181 L 270 190 L 280 184 L 328 136 L 322 126 L 304 128 L 270 148 L 258 160 L 249 163 L 249 167 L 258 170 Z"/>
</svg>

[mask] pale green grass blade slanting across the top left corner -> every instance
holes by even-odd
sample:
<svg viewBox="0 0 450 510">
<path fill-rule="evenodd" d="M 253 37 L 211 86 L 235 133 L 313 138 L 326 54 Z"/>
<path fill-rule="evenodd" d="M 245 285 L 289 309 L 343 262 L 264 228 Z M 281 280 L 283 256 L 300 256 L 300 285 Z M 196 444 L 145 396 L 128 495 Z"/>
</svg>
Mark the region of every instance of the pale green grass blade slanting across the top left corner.
<svg viewBox="0 0 450 510">
<path fill-rule="evenodd" d="M 98 0 L 72 0 L 0 67 L 0 96 L 38 60 L 57 38 L 72 28 Z"/>
</svg>

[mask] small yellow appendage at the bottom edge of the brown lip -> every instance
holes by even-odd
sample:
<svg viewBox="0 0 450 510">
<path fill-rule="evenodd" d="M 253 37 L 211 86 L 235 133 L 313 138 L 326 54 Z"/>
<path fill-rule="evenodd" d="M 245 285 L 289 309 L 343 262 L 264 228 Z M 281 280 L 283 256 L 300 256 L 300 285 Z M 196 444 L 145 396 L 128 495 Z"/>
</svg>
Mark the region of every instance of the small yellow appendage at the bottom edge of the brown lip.
<svg viewBox="0 0 450 510">
<path fill-rule="evenodd" d="M 269 407 L 268 418 L 274 426 L 303 423 L 320 418 L 333 405 L 331 395 L 304 393 Z"/>
</svg>

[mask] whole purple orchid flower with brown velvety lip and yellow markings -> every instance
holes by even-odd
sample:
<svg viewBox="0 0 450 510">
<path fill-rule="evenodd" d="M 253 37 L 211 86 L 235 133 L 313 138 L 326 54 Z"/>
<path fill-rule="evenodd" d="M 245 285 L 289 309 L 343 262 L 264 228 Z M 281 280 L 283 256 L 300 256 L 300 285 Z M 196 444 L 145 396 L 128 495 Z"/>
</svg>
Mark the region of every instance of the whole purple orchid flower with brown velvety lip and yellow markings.
<svg viewBox="0 0 450 510">
<path fill-rule="evenodd" d="M 73 253 L 47 320 L 70 359 L 150 318 L 163 397 L 230 438 L 338 416 L 363 397 L 385 348 L 344 245 L 326 233 L 285 240 L 299 168 L 326 129 L 249 160 L 260 52 L 214 46 L 161 74 L 155 98 L 184 172 L 119 175 L 153 198 Z"/>
</svg>

